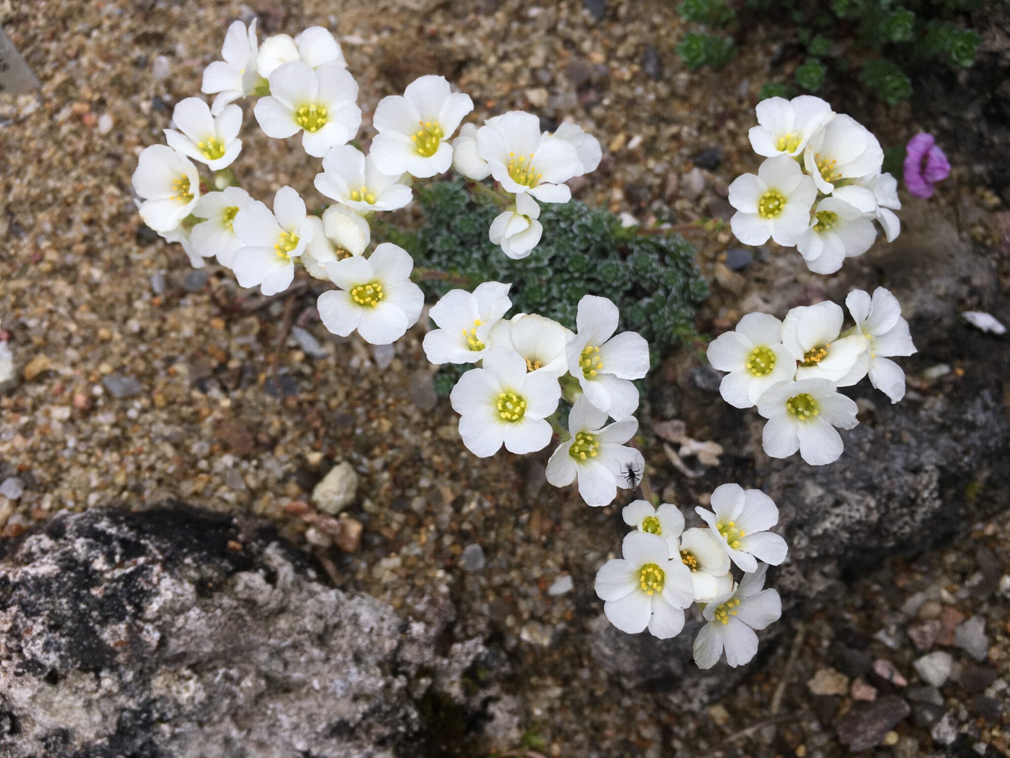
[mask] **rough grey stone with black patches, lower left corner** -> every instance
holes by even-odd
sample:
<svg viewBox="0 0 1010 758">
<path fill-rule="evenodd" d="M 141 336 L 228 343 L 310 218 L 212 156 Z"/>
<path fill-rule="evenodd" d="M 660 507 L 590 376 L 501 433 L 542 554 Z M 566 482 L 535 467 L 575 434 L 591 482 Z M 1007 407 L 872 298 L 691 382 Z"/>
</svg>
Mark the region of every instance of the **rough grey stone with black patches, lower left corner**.
<svg viewBox="0 0 1010 758">
<path fill-rule="evenodd" d="M 427 628 L 325 586 L 271 528 L 95 508 L 0 551 L 5 758 L 416 749 Z"/>
</svg>

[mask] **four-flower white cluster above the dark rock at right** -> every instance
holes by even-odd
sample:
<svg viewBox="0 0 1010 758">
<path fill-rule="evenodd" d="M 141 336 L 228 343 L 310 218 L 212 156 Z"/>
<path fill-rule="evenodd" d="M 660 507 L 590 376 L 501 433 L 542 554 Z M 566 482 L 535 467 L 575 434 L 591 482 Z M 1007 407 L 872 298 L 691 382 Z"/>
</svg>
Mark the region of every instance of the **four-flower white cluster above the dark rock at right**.
<svg viewBox="0 0 1010 758">
<path fill-rule="evenodd" d="M 773 458 L 799 450 L 812 466 L 838 460 L 835 428 L 858 423 L 855 403 L 839 387 L 869 376 L 892 403 L 905 396 L 905 373 L 890 359 L 914 354 L 915 346 L 898 299 L 878 287 L 873 297 L 849 292 L 845 305 L 854 321 L 847 329 L 839 305 L 819 302 L 793 308 L 784 321 L 747 313 L 708 346 L 712 367 L 728 372 L 722 398 L 737 408 L 756 405 L 768 418 L 763 446 Z"/>
</svg>

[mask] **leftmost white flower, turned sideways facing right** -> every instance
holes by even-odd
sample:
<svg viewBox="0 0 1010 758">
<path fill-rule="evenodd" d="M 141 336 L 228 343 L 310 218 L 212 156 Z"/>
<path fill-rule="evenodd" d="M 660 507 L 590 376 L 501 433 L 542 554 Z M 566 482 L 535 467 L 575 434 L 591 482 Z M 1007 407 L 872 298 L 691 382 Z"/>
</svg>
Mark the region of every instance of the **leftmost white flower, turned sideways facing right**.
<svg viewBox="0 0 1010 758">
<path fill-rule="evenodd" d="M 143 222 L 158 232 L 172 231 L 193 212 L 200 198 L 200 175 L 182 153 L 152 145 L 137 160 L 133 189 L 143 198 Z"/>
</svg>

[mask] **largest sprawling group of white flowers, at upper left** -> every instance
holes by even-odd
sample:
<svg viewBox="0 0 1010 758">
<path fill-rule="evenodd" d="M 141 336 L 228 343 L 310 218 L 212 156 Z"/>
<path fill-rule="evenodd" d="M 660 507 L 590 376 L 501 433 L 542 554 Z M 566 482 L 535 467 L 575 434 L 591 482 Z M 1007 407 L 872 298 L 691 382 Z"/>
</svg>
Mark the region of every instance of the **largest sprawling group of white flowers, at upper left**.
<svg viewBox="0 0 1010 758">
<path fill-rule="evenodd" d="M 298 266 L 329 280 L 336 289 L 320 295 L 319 313 L 341 337 L 357 330 L 367 342 L 389 344 L 420 318 L 423 296 L 411 281 L 410 255 L 390 243 L 368 252 L 369 221 L 410 203 L 414 179 L 452 167 L 474 181 L 493 177 L 510 207 L 488 236 L 521 259 L 543 233 L 537 201 L 568 202 L 572 193 L 564 182 L 600 163 L 599 143 L 575 124 L 549 134 L 535 115 L 512 111 L 480 127 L 461 127 L 473 101 L 438 76 L 422 76 L 402 96 L 383 98 L 372 119 L 378 133 L 365 155 L 348 145 L 362 124 L 358 83 L 339 43 L 320 26 L 260 44 L 255 21 L 248 27 L 235 21 L 221 57 L 203 75 L 203 92 L 215 95 L 213 103 L 181 101 L 173 113 L 176 128 L 165 130 L 168 145 L 140 154 L 133 174 L 140 215 L 167 241 L 181 243 L 193 266 L 214 257 L 241 286 L 264 295 L 286 290 Z M 242 110 L 235 101 L 249 97 L 258 98 L 252 110 L 264 133 L 300 134 L 305 152 L 322 159 L 315 188 L 334 205 L 309 213 L 296 190 L 282 187 L 270 208 L 234 186 L 231 166 L 242 150 Z M 201 182 L 194 161 L 215 172 L 212 181 Z M 626 407 L 627 388 L 614 393 L 615 407 Z M 597 391 L 604 409 L 608 397 L 606 388 Z"/>
</svg>

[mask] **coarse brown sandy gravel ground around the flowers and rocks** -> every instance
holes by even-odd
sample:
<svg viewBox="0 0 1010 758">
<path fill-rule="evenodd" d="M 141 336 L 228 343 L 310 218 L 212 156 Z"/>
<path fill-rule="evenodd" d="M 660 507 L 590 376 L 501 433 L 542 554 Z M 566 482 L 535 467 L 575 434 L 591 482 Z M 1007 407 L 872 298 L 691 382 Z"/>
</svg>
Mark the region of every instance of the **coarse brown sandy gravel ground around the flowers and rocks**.
<svg viewBox="0 0 1010 758">
<path fill-rule="evenodd" d="M 602 19 L 588 6 L 605 6 Z M 268 31 L 337 21 L 325 0 L 256 7 Z M 489 666 L 511 693 L 494 705 L 505 726 L 457 746 L 460 755 L 525 745 L 557 756 L 832 756 L 875 725 L 880 755 L 1007 754 L 1006 514 L 794 620 L 792 642 L 719 702 L 688 713 L 690 680 L 646 691 L 607 674 L 596 660 L 605 651 L 586 644 L 601 624 L 592 576 L 622 533 L 619 509 L 544 486 L 545 455 L 467 454 L 434 395 L 421 326 L 392 348 L 334 338 L 308 293 L 264 301 L 219 268 L 190 269 L 181 249 L 142 227 L 136 156 L 160 139 L 174 103 L 197 94 L 226 24 L 251 17 L 220 0 L 46 0 L 30 10 L 0 0 L 0 22 L 43 83 L 40 97 L 0 96 L 0 340 L 17 370 L 0 395 L 0 482 L 17 480 L 0 494 L 4 536 L 62 509 L 167 494 L 264 514 L 315 550 L 338 584 L 439 619 L 450 641 L 494 641 L 502 655 Z M 720 75 L 691 74 L 675 56 L 674 3 L 356 0 L 338 18 L 365 128 L 382 96 L 422 73 L 456 81 L 480 117 L 572 116 L 606 154 L 578 196 L 642 223 L 727 218 L 728 182 L 756 166 L 746 128 L 774 30 L 754 31 Z M 885 145 L 920 125 L 907 107 L 847 105 Z M 290 183 L 311 195 L 316 163 L 297 140 L 265 138 L 250 115 L 246 127 L 242 186 L 265 197 Z M 951 197 L 911 217 L 934 214 L 955 240 L 979 244 L 1008 233 L 988 188 L 962 187 L 956 208 Z M 761 249 L 740 265 L 728 231 L 692 241 L 713 282 L 700 333 L 837 286 L 795 253 Z M 867 281 L 879 249 L 854 264 Z M 702 365 L 692 350 L 671 361 Z M 312 490 L 344 461 L 357 496 L 338 516 L 320 515 Z M 694 482 L 663 456 L 649 462 L 658 491 L 682 503 L 723 480 L 718 467 Z"/>
</svg>

